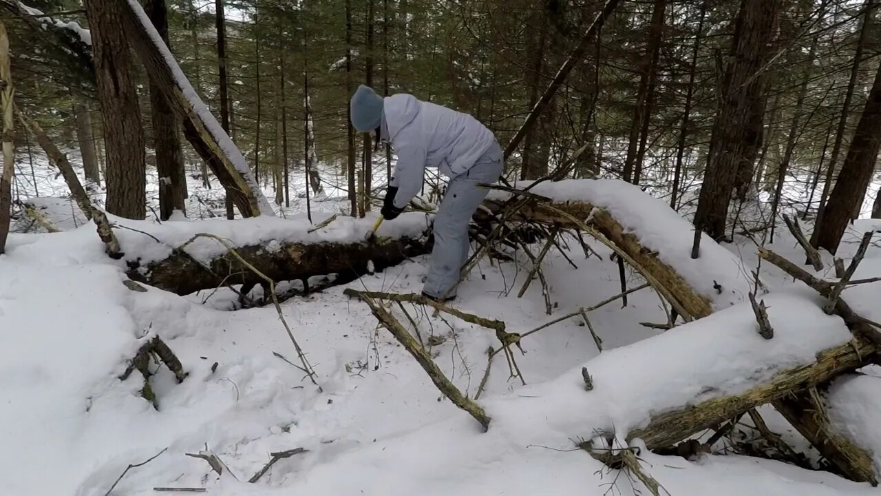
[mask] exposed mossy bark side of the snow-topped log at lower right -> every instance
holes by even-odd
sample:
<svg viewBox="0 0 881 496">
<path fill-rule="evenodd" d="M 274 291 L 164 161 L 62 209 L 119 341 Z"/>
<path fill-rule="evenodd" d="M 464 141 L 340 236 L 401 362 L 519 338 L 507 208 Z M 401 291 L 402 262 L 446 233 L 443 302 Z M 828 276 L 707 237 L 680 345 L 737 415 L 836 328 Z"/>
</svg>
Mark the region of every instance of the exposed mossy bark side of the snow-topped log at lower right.
<svg viewBox="0 0 881 496">
<path fill-rule="evenodd" d="M 869 363 L 876 354 L 875 344 L 855 338 L 818 353 L 815 362 L 781 370 L 742 394 L 720 396 L 655 415 L 648 425 L 628 432 L 627 439 L 643 440 L 649 449 L 670 447 L 744 411 L 777 402 L 794 392 L 854 371 Z"/>
</svg>

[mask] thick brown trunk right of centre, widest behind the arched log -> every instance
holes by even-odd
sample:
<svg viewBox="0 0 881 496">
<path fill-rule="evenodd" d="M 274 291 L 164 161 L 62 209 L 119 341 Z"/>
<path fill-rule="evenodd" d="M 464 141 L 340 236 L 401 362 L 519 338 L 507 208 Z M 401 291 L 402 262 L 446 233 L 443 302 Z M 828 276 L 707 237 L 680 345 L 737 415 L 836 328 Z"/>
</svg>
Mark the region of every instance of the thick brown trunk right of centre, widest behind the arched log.
<svg viewBox="0 0 881 496">
<path fill-rule="evenodd" d="M 714 139 L 707 156 L 707 171 L 700 188 L 694 224 L 698 232 L 714 239 L 725 235 L 731 192 L 755 102 L 749 98 L 762 83 L 759 70 L 766 62 L 773 38 L 779 0 L 743 0 L 737 15 L 732 57 L 725 74 L 722 109 L 715 119 Z M 695 250 L 696 252 L 696 250 Z M 697 253 L 692 253 L 696 256 Z"/>
</svg>

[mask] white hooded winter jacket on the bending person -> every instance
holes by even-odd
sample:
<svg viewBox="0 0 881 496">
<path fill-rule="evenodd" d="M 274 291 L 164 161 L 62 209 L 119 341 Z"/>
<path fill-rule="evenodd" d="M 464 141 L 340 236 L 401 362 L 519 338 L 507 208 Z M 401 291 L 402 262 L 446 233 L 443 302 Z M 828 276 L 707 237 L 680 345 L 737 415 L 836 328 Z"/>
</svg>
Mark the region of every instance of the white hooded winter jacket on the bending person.
<svg viewBox="0 0 881 496">
<path fill-rule="evenodd" d="M 385 97 L 381 138 L 397 154 L 391 185 L 398 188 L 398 208 L 422 188 L 426 167 L 436 167 L 446 177 L 459 176 L 496 143 L 492 132 L 474 117 L 418 101 L 411 94 Z"/>
</svg>

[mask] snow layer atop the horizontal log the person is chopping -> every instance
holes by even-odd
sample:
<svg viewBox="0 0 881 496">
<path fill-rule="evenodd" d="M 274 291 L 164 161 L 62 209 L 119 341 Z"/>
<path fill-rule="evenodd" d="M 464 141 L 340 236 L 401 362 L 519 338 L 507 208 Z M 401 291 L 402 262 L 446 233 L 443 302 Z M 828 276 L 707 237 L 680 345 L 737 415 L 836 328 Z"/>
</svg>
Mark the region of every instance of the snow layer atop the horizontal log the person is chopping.
<svg viewBox="0 0 881 496">
<path fill-rule="evenodd" d="M 323 215 L 323 217 L 322 217 Z M 315 225 L 329 218 L 329 214 L 315 214 Z M 115 229 L 119 237 L 125 259 L 138 260 L 144 266 L 153 261 L 167 259 L 173 250 L 189 241 L 198 233 L 213 234 L 227 239 L 233 247 L 263 245 L 268 248 L 280 244 L 300 243 L 366 243 L 364 235 L 373 228 L 378 214 L 363 219 L 338 216 L 321 229 L 307 220 L 305 214 L 282 219 L 261 215 L 247 219 L 205 219 L 192 222 L 165 222 L 157 224 L 150 221 L 131 221 L 112 217 L 111 221 L 131 229 Z M 433 215 L 410 212 L 401 214 L 392 222 L 382 222 L 376 236 L 387 239 L 421 237 L 432 222 Z M 312 230 L 312 232 L 309 232 Z M 144 234 L 146 233 L 146 234 Z M 156 239 L 147 236 L 149 234 Z M 187 248 L 189 256 L 208 261 L 226 253 L 226 248 L 218 242 L 199 238 Z"/>
</svg>

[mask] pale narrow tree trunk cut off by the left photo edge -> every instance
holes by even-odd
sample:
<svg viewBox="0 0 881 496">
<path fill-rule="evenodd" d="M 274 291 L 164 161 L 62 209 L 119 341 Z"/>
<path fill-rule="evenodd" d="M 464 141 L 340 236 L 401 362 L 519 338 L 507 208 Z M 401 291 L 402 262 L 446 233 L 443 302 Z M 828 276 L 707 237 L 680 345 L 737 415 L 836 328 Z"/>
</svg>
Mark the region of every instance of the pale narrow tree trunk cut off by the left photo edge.
<svg viewBox="0 0 881 496">
<path fill-rule="evenodd" d="M 9 34 L 0 20 L 0 108 L 3 109 L 3 174 L 0 175 L 0 254 L 6 252 L 12 207 L 12 169 L 15 168 L 15 132 L 12 130 L 12 70 Z"/>
</svg>

